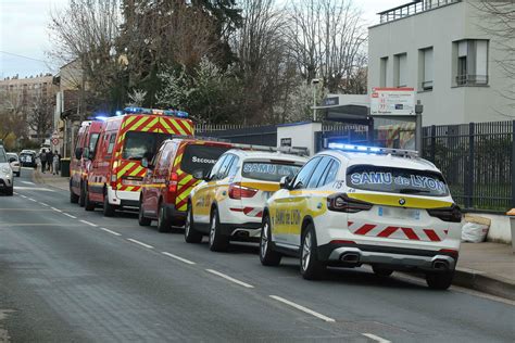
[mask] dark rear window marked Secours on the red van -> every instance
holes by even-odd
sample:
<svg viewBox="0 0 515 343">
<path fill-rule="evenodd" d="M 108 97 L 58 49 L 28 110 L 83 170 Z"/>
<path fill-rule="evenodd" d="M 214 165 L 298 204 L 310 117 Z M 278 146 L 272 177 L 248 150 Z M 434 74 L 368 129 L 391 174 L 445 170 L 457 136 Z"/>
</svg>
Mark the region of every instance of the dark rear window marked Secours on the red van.
<svg viewBox="0 0 515 343">
<path fill-rule="evenodd" d="M 185 149 L 180 169 L 191 175 L 199 170 L 202 170 L 202 175 L 208 175 L 218 157 L 229 149 L 230 147 L 189 144 Z"/>
</svg>

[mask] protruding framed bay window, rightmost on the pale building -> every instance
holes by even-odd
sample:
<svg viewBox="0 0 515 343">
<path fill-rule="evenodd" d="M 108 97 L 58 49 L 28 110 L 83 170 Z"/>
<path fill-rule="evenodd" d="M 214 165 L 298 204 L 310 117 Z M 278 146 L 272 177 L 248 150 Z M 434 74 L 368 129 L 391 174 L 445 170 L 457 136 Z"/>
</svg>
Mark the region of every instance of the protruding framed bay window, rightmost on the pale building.
<svg viewBox="0 0 515 343">
<path fill-rule="evenodd" d="M 465 39 L 454 42 L 455 86 L 488 85 L 488 40 Z"/>
</svg>

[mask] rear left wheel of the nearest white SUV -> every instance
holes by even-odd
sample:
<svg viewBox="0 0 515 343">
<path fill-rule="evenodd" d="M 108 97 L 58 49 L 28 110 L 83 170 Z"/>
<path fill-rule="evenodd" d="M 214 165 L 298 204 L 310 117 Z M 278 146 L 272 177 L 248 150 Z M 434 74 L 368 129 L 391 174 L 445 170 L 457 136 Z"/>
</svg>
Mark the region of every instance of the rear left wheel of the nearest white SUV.
<svg viewBox="0 0 515 343">
<path fill-rule="evenodd" d="M 302 234 L 301 275 L 306 280 L 318 280 L 325 271 L 325 265 L 318 261 L 318 246 L 316 244 L 315 227 L 309 224 Z"/>
</svg>

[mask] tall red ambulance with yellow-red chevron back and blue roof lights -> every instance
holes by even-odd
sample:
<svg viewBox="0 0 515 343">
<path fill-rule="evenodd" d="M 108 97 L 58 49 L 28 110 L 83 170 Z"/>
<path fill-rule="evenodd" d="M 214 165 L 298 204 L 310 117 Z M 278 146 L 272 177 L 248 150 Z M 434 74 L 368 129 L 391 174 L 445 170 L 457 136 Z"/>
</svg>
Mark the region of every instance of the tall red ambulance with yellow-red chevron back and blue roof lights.
<svg viewBox="0 0 515 343">
<path fill-rule="evenodd" d="M 105 119 L 85 186 L 85 209 L 103 204 L 104 216 L 112 216 L 117 208 L 137 208 L 147 175 L 141 160 L 151 160 L 168 138 L 191 136 L 193 123 L 185 116 L 180 111 L 127 107 L 124 115 Z M 83 152 L 83 158 L 91 157 L 90 151 Z"/>
</svg>

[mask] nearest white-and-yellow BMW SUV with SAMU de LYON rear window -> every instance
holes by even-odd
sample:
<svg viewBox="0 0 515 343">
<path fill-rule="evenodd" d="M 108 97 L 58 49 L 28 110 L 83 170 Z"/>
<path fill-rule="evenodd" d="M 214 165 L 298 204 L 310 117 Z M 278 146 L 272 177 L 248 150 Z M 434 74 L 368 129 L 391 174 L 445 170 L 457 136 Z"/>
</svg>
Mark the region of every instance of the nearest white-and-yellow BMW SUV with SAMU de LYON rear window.
<svg viewBox="0 0 515 343">
<path fill-rule="evenodd" d="M 447 289 L 456 266 L 461 219 L 440 170 L 416 152 L 338 144 L 312 157 L 267 202 L 260 259 L 300 258 L 305 279 L 326 266 L 422 271 Z"/>
</svg>

